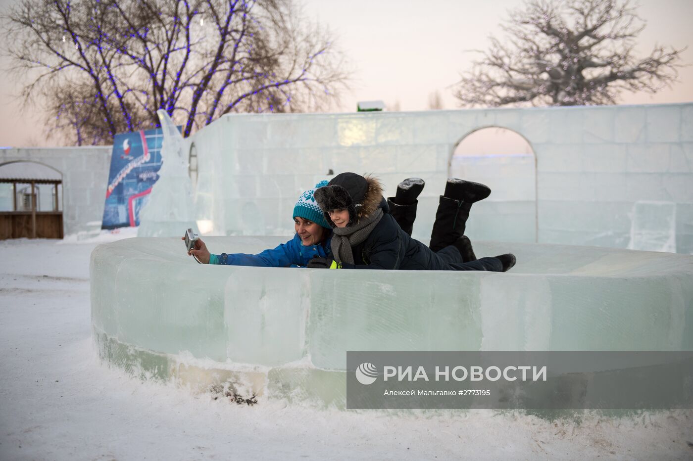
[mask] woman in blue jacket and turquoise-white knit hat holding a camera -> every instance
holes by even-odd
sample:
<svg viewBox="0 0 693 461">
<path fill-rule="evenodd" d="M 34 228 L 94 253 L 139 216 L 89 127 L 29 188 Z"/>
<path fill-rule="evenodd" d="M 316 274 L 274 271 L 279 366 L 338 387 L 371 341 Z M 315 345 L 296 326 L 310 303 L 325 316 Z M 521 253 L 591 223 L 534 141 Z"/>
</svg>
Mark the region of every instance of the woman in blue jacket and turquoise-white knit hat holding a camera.
<svg viewBox="0 0 693 461">
<path fill-rule="evenodd" d="M 327 186 L 327 181 L 315 185 L 315 189 Z M 227 264 L 229 266 L 296 267 L 306 266 L 313 257 L 326 257 L 330 252 L 332 230 L 322 210 L 315 203 L 315 189 L 306 190 L 294 206 L 294 229 L 296 235 L 277 248 L 265 250 L 257 255 L 244 253 L 209 253 L 207 245 L 198 239 L 188 255 L 204 264 Z"/>
</svg>

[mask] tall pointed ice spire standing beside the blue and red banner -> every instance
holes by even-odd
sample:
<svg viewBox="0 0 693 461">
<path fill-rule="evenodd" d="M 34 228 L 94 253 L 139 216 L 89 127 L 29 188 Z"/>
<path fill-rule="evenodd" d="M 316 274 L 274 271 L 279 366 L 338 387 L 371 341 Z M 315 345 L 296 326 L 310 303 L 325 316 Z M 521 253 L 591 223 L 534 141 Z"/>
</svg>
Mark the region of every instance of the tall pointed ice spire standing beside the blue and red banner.
<svg viewBox="0 0 693 461">
<path fill-rule="evenodd" d="M 157 111 L 164 131 L 161 158 L 164 163 L 159 179 L 152 187 L 149 200 L 140 211 L 139 237 L 172 237 L 183 235 L 186 228 L 198 233 L 188 160 L 183 150 L 183 137 L 166 111 Z"/>
</svg>

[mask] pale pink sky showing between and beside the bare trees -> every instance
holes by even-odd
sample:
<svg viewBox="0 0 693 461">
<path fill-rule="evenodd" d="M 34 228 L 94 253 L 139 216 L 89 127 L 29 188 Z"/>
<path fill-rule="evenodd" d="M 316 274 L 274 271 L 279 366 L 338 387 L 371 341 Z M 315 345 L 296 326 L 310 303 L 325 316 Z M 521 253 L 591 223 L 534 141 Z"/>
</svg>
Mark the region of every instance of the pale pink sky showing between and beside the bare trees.
<svg viewBox="0 0 693 461">
<path fill-rule="evenodd" d="M 0 6 L 17 0 L 0 0 Z M 403 111 L 425 110 L 430 93 L 439 91 L 444 108 L 457 103 L 450 85 L 471 67 L 475 53 L 486 49 L 490 34 L 500 35 L 507 10 L 521 0 L 308 0 L 308 17 L 329 26 L 356 73 L 351 92 L 344 93 L 337 111 L 354 111 L 360 100 L 383 100 Z M 693 44 L 693 1 L 642 0 L 638 10 L 647 20 L 638 50 L 649 54 L 655 44 L 682 48 Z M 683 53 L 693 63 L 693 50 Z M 6 65 L 6 62 L 3 62 Z M 656 95 L 624 93 L 623 104 L 693 101 L 693 66 L 679 70 L 680 82 Z M 6 80 L 7 82 L 7 80 Z M 37 109 L 11 101 L 16 83 L 0 89 L 0 145 L 53 145 L 45 139 Z"/>
</svg>

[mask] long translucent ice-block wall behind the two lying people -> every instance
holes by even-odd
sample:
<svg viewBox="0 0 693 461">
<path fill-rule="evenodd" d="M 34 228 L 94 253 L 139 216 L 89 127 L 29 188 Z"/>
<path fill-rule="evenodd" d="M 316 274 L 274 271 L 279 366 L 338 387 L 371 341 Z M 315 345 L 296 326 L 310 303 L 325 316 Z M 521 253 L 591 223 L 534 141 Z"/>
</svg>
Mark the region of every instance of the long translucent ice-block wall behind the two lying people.
<svg viewBox="0 0 693 461">
<path fill-rule="evenodd" d="M 455 145 L 483 127 L 514 130 L 532 145 L 538 242 L 626 248 L 635 202 L 670 201 L 676 251 L 693 253 L 691 103 L 228 115 L 186 139 L 198 153 L 198 219 L 216 234 L 290 235 L 300 192 L 330 170 L 378 174 L 391 194 L 416 176 L 426 189 L 414 237 L 426 241 Z M 524 240 L 507 223 L 511 204 L 495 206 L 471 237 Z"/>
</svg>

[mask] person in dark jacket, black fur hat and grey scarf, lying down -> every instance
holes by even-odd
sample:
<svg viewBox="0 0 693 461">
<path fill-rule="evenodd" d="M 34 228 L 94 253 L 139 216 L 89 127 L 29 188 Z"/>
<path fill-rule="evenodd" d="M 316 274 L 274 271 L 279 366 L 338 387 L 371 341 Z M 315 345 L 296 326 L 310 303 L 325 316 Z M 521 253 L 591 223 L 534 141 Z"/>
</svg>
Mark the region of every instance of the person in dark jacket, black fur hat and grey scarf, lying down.
<svg viewBox="0 0 693 461">
<path fill-rule="evenodd" d="M 450 191 L 468 192 L 470 184 L 480 186 L 475 183 L 464 186 L 465 181 L 459 180 L 451 182 Z M 463 187 L 455 187 L 455 184 Z M 457 237 L 455 233 L 459 228 L 454 225 L 441 227 L 434 224 L 437 245 L 449 242 L 450 236 L 457 237 L 457 240 L 437 252 L 432 251 L 407 235 L 387 213 L 387 201 L 382 192 L 383 187 L 377 179 L 355 173 L 338 174 L 328 186 L 315 190 L 315 200 L 333 228 L 332 254 L 316 257 L 308 264 L 309 267 L 505 272 L 514 266 L 515 256 L 511 253 L 463 262 L 462 255 L 473 255 L 473 252 L 466 237 Z M 457 206 L 459 208 L 462 208 L 461 204 Z M 442 213 L 437 213 L 437 222 L 439 214 Z"/>
</svg>

